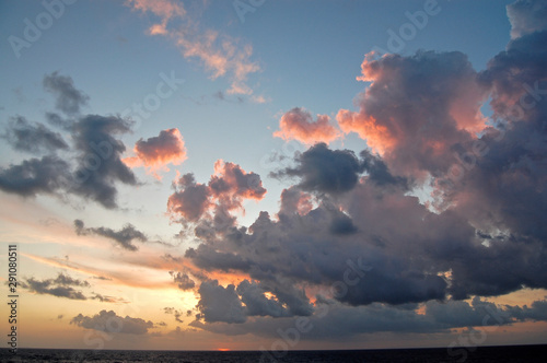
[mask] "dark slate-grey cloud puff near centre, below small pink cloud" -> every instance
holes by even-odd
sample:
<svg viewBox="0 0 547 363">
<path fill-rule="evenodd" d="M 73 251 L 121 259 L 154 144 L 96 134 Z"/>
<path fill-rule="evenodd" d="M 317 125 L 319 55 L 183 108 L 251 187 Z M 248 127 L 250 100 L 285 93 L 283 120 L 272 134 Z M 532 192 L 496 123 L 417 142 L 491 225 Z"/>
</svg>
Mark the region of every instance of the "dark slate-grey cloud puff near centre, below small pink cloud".
<svg viewBox="0 0 547 363">
<path fill-rule="evenodd" d="M 295 157 L 296 166 L 274 172 L 274 177 L 299 177 L 306 191 L 339 194 L 353 188 L 363 171 L 350 150 L 330 150 L 317 143 Z"/>
</svg>

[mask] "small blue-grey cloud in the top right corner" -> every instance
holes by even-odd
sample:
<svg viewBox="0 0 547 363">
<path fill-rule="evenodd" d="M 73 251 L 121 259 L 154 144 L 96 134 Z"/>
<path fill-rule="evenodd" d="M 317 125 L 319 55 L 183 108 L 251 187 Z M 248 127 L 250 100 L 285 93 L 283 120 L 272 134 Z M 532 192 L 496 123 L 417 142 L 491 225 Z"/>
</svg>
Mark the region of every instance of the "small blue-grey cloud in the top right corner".
<svg viewBox="0 0 547 363">
<path fill-rule="evenodd" d="M 507 5 L 511 38 L 547 30 L 547 4 L 542 0 L 519 0 Z"/>
</svg>

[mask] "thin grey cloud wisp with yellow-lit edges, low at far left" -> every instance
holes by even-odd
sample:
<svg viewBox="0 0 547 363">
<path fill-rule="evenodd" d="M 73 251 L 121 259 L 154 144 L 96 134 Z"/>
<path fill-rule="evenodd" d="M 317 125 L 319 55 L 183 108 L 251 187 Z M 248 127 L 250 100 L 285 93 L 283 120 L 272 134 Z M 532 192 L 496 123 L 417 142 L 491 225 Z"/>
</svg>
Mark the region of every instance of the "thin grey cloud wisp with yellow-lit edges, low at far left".
<svg viewBox="0 0 547 363">
<path fill-rule="evenodd" d="M 71 300 L 86 300 L 88 297 L 85 297 L 81 291 L 77 291 L 73 286 L 90 288 L 91 285 L 88 281 L 72 279 L 67 274 L 59 273 L 56 279 L 26 279 L 22 283 L 22 286 L 37 294 L 47 294 Z"/>
</svg>

